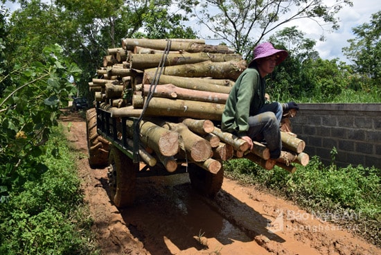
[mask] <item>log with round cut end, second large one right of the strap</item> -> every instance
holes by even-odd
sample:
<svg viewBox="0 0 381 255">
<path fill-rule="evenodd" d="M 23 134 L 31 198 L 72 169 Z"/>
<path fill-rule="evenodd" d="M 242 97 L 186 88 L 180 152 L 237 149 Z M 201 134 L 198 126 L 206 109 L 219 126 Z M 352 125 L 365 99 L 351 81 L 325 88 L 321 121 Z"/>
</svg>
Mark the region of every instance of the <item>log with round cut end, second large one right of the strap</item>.
<svg viewBox="0 0 381 255">
<path fill-rule="evenodd" d="M 192 161 L 205 161 L 211 157 L 212 149 L 209 141 L 190 131 L 183 123 L 166 122 L 160 126 L 181 135 L 181 141 L 184 143 L 183 149 Z"/>
</svg>

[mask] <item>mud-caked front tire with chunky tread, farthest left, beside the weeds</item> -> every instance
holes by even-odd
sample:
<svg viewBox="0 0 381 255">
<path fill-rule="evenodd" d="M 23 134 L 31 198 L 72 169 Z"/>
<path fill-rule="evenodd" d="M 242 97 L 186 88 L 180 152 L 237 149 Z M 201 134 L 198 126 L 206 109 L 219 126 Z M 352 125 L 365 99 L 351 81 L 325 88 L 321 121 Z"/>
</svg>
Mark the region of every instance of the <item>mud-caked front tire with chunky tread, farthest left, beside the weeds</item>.
<svg viewBox="0 0 381 255">
<path fill-rule="evenodd" d="M 87 149 L 89 152 L 89 165 L 91 168 L 107 166 L 110 143 L 96 132 L 96 109 L 86 112 Z"/>
</svg>

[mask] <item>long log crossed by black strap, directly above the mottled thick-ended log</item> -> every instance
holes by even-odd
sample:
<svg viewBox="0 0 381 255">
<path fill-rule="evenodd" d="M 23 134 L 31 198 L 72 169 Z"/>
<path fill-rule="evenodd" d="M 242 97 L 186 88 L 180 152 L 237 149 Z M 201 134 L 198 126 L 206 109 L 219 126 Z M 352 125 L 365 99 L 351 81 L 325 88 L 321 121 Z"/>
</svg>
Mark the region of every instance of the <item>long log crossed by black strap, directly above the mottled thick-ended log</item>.
<svg viewBox="0 0 381 255">
<path fill-rule="evenodd" d="M 159 64 L 163 64 L 164 67 L 169 67 L 179 64 L 195 64 L 208 60 L 211 60 L 211 62 L 242 60 L 242 56 L 238 54 L 209 54 L 204 52 L 168 54 L 166 56 L 166 61 L 161 63 L 162 58 L 162 54 L 130 54 L 130 68 L 143 70 L 159 67 Z"/>
</svg>

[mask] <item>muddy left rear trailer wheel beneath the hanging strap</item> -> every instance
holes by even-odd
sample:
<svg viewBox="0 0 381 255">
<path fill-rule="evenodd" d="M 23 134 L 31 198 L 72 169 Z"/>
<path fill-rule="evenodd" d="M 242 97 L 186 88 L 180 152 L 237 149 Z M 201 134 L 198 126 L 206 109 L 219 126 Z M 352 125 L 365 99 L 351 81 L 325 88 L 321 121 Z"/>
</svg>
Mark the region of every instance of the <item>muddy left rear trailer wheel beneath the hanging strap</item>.
<svg viewBox="0 0 381 255">
<path fill-rule="evenodd" d="M 118 148 L 109 153 L 109 195 L 118 208 L 130 206 L 135 198 L 134 162 Z"/>
</svg>

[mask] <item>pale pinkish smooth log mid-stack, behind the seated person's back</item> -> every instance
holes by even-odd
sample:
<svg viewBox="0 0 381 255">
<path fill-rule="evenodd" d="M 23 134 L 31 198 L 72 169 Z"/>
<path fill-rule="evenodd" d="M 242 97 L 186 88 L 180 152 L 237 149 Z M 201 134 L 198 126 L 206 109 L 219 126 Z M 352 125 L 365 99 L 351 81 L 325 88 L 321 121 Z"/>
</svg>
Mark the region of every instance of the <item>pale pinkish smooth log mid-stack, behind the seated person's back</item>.
<svg viewBox="0 0 381 255">
<path fill-rule="evenodd" d="M 143 85 L 144 95 L 150 92 L 150 86 Z M 195 89 L 184 89 L 176 87 L 172 84 L 157 85 L 154 89 L 153 96 L 161 98 L 179 98 L 185 100 L 193 100 L 211 103 L 226 103 L 229 94 L 212 93 L 209 91 L 200 91 Z"/>
</svg>

